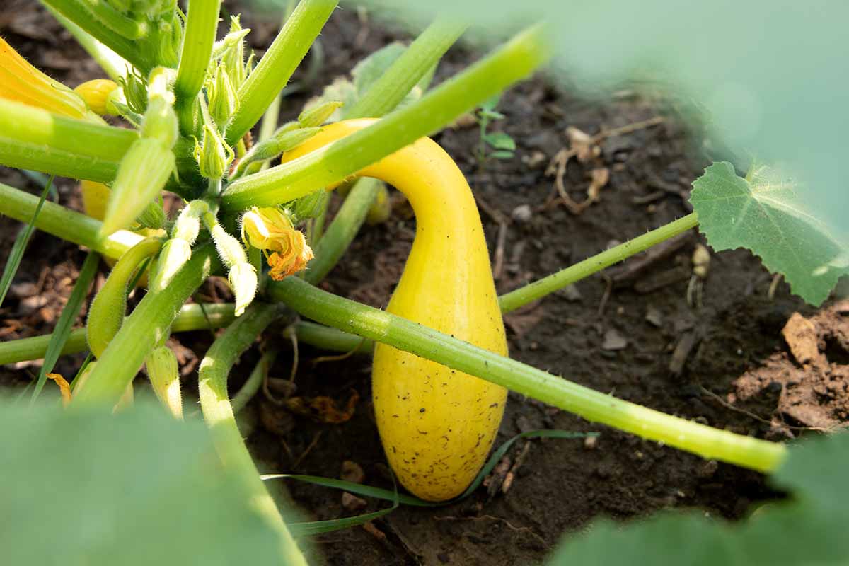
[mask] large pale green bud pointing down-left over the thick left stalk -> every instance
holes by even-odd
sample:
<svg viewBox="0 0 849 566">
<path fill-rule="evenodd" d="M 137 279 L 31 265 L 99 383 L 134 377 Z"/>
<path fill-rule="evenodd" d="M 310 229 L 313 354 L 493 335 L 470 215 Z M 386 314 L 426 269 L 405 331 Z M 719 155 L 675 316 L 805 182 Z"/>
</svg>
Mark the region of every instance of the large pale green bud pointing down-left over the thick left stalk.
<svg viewBox="0 0 849 566">
<path fill-rule="evenodd" d="M 158 140 L 142 138 L 132 143 L 118 167 L 100 235 L 105 237 L 131 226 L 165 188 L 175 165 L 171 149 Z"/>
</svg>

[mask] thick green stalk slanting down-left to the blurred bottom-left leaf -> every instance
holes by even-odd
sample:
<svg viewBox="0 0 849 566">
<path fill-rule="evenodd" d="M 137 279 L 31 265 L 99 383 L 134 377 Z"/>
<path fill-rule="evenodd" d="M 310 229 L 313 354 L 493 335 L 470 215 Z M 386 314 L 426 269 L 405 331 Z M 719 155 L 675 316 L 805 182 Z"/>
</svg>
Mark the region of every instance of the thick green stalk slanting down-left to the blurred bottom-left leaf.
<svg viewBox="0 0 849 566">
<path fill-rule="evenodd" d="M 213 255 L 211 246 L 195 248 L 192 259 L 166 289 L 144 295 L 98 359 L 97 367 L 89 374 L 86 387 L 74 403 L 111 406 L 121 398 L 144 358 L 166 337 L 180 307 L 210 274 Z"/>
</svg>

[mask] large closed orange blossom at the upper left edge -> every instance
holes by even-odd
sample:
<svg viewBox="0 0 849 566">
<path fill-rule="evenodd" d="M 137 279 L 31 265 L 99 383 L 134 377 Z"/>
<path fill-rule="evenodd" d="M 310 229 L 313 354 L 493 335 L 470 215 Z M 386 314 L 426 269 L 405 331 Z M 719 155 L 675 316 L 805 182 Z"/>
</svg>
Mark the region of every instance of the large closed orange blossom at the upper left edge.
<svg viewBox="0 0 849 566">
<path fill-rule="evenodd" d="M 0 98 L 70 118 L 89 115 L 80 95 L 27 63 L 3 37 L 0 37 Z"/>
</svg>

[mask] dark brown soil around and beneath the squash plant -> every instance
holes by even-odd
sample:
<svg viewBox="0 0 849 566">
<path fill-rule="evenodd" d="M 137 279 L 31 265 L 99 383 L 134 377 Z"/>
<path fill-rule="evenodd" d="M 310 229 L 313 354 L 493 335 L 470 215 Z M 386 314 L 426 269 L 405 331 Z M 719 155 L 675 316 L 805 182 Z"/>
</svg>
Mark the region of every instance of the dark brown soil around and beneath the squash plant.
<svg viewBox="0 0 849 566">
<path fill-rule="evenodd" d="M 0 14 L 0 33 L 20 53 L 71 86 L 98 76 L 96 65 L 35 2 L 12 3 Z M 267 46 L 276 28 L 273 20 L 246 14 L 244 21 L 254 29 L 251 46 L 258 51 Z M 337 11 L 321 36 L 326 56 L 318 87 L 398 38 L 406 36 L 375 27 L 352 10 Z M 475 57 L 464 48 L 453 49 L 437 81 Z M 305 100 L 303 93 L 290 98 L 284 118 L 296 115 Z M 545 171 L 560 149 L 571 147 L 567 127 L 593 135 L 650 119 L 664 109 L 661 101 L 631 92 L 583 101 L 537 77 L 505 94 L 499 107 L 507 118 L 495 127 L 518 143 L 514 159 L 490 160 L 481 167 L 473 154 L 478 142 L 474 126 L 461 123 L 436 136 L 467 175 L 493 255 L 503 258 L 499 291 L 689 212 L 689 184 L 706 161 L 692 157 L 694 137 L 670 114 L 660 125 L 607 137 L 597 155 L 569 161 L 563 182 L 576 201 L 586 198 L 593 169 L 610 173 L 598 202 L 578 215 L 557 203 L 545 206 L 554 187 L 554 178 Z M 0 182 L 39 190 L 19 172 L 2 168 Z M 59 201 L 78 208 L 73 183 L 57 184 Z M 326 289 L 385 305 L 414 234 L 406 205 L 400 199 L 395 205 L 390 221 L 363 229 L 330 274 Z M 0 219 L 0 261 L 19 228 Z M 607 277 L 589 277 L 509 314 L 511 356 L 628 401 L 740 434 L 790 440 L 807 429 L 845 424 L 849 305 L 813 309 L 791 296 L 784 283 L 770 298 L 770 274 L 748 252 L 734 251 L 711 256 L 702 304 L 691 306 L 691 256 L 700 241 L 691 233 L 642 270 L 635 269 L 640 261 L 635 258 L 606 272 Z M 37 233 L 0 310 L 0 337 L 49 332 L 82 258 L 75 246 Z M 204 292 L 222 299 L 227 294 L 217 284 L 208 284 Z M 800 315 L 785 339 L 782 330 L 796 312 Z M 191 367 L 210 345 L 211 333 L 177 339 Z M 267 340 L 287 343 L 279 333 Z M 236 368 L 233 389 L 256 361 L 254 350 Z M 365 483 L 391 487 L 372 418 L 368 358 L 312 363 L 322 355 L 301 347 L 297 395 L 327 395 L 344 404 L 356 392 L 360 401 L 351 420 L 317 423 L 258 397 L 245 412 L 245 426 L 253 431 L 251 448 L 267 471 L 338 477 L 343 462 L 350 461 L 363 469 Z M 79 361 L 80 356 L 65 357 L 58 370 L 72 374 Z M 290 363 L 290 355 L 279 356 L 273 376 L 288 378 Z M 0 367 L 0 384 L 20 387 L 33 371 L 37 364 Z M 191 378 L 186 385 L 192 388 Z M 629 519 L 661 509 L 698 507 L 713 516 L 739 518 L 751 502 L 774 496 L 760 474 L 706 462 L 518 395 L 511 395 L 498 441 L 545 428 L 601 435 L 594 441 L 520 441 L 498 467 L 501 474 L 464 502 L 436 509 L 402 507 L 368 529 L 318 536 L 315 552 L 329 564 L 525 564 L 543 558 L 561 535 L 582 530 L 595 517 Z M 365 509 L 351 512 L 351 502 L 338 491 L 295 482 L 289 489 L 305 520 L 385 507 L 385 502 L 370 501 Z"/>
</svg>

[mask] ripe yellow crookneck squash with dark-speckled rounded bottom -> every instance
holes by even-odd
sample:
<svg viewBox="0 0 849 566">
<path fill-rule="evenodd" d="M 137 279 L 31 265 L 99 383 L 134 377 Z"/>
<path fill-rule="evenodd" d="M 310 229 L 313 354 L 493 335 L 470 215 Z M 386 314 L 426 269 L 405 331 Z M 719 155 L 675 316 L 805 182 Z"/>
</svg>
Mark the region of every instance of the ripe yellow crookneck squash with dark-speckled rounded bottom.
<svg viewBox="0 0 849 566">
<path fill-rule="evenodd" d="M 346 120 L 284 155 L 292 160 L 374 120 Z M 416 215 L 413 250 L 386 311 L 498 354 L 507 341 L 481 217 L 463 173 L 423 137 L 357 177 L 404 193 Z M 428 501 L 460 495 L 492 447 L 507 390 L 419 356 L 378 344 L 373 400 L 380 439 L 408 490 Z"/>
</svg>

